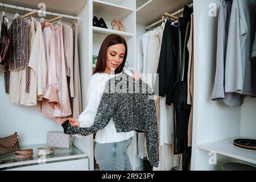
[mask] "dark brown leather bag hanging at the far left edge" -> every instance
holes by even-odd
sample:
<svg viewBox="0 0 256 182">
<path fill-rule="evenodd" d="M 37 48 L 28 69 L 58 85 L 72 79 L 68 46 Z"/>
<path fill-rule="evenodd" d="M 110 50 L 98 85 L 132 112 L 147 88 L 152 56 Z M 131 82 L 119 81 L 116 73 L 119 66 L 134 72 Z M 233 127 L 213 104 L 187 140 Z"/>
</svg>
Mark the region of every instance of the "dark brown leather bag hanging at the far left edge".
<svg viewBox="0 0 256 182">
<path fill-rule="evenodd" d="M 5 22 L 5 17 L 6 16 L 3 16 L 2 28 L 1 28 L 1 40 L 0 40 L 0 52 L 2 57 L 0 64 L 2 65 L 4 65 L 7 62 L 11 43 L 13 42 L 7 29 L 7 22 Z"/>
</svg>

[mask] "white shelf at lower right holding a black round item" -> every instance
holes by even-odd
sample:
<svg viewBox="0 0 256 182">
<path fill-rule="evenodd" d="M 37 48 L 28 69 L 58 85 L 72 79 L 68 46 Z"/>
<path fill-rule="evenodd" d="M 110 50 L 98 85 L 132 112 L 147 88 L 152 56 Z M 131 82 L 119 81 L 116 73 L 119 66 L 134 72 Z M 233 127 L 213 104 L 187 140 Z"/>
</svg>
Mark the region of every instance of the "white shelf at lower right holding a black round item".
<svg viewBox="0 0 256 182">
<path fill-rule="evenodd" d="M 236 137 L 224 140 L 219 140 L 216 142 L 210 142 L 205 144 L 200 144 L 197 148 L 206 151 L 215 151 L 217 154 L 229 156 L 230 158 L 243 160 L 245 162 L 256 164 L 256 151 L 248 150 L 245 148 L 240 148 L 234 146 L 234 139 L 245 138 Z"/>
</svg>

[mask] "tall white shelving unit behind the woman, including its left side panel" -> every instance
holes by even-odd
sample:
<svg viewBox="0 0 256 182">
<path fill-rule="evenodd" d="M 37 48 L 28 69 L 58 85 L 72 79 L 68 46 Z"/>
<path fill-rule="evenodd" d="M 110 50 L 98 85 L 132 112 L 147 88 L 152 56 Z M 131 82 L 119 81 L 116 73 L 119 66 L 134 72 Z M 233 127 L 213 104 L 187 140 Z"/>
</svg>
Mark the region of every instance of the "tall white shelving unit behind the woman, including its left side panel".
<svg viewBox="0 0 256 182">
<path fill-rule="evenodd" d="M 90 77 L 93 73 L 93 68 L 96 65 L 93 65 L 92 56 L 98 55 L 100 47 L 106 36 L 110 34 L 118 34 L 123 36 L 126 39 L 128 47 L 127 62 L 129 64 L 129 69 L 135 70 L 135 52 L 136 52 L 136 7 L 135 0 L 129 1 L 98 1 L 98 0 L 89 0 L 85 7 L 82 9 L 80 15 L 84 21 L 80 22 L 80 30 L 83 32 L 81 34 L 80 41 L 80 60 L 83 60 L 80 65 L 81 74 L 81 84 L 82 84 L 82 105 L 83 110 L 87 105 L 86 95 L 87 88 L 90 81 Z M 103 18 L 108 29 L 94 27 L 93 26 L 93 16 L 97 16 L 98 19 Z M 121 20 L 125 32 L 112 30 L 111 21 L 113 19 Z M 79 140 L 79 139 L 77 139 Z M 80 141 L 79 141 L 80 142 Z M 93 136 L 90 135 L 86 139 L 87 146 L 90 146 L 89 149 L 89 159 L 90 159 L 90 170 L 93 170 Z M 81 142 L 80 142 L 81 143 Z M 135 165 L 135 156 L 133 154 L 134 142 L 129 147 L 129 157 L 133 166 Z M 134 167 L 135 169 L 135 167 Z"/>
</svg>

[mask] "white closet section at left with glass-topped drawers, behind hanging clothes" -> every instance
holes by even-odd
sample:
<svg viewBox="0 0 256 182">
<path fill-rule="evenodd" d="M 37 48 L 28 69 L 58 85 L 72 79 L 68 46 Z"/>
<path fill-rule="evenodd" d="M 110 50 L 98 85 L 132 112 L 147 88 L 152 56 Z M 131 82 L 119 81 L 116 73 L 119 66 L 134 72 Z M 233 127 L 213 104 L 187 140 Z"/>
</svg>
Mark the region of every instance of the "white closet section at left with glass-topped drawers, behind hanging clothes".
<svg viewBox="0 0 256 182">
<path fill-rule="evenodd" d="M 60 2 L 60 1 L 59 1 Z M 61 1 L 63 2 L 63 1 Z M 46 5 L 51 6 L 51 9 L 55 9 L 53 12 L 62 12 L 63 14 L 68 14 L 63 12 L 63 6 L 67 6 L 68 2 L 63 2 L 64 5 L 57 5 L 55 3 L 52 3 L 50 1 L 45 2 Z M 13 1 L 11 2 L 11 5 L 24 6 L 27 8 L 35 7 L 34 2 L 30 3 L 24 3 L 23 1 Z M 79 3 L 79 5 L 84 6 L 85 3 Z M 36 6 L 37 7 L 37 6 Z M 68 7 L 68 6 L 67 6 Z M 77 5 L 74 5 L 74 9 L 78 10 L 76 13 L 79 13 L 81 10 L 81 7 L 77 7 Z M 48 9 L 49 10 L 49 9 Z M 5 9 L 5 14 L 9 18 L 9 24 L 10 26 L 11 20 L 14 17 L 14 9 Z M 24 14 L 23 11 L 19 12 L 20 15 Z M 27 12 L 26 12 L 27 13 Z M 35 15 L 35 18 L 39 21 L 40 18 Z M 49 17 L 47 17 L 49 18 Z M 67 20 L 67 19 L 65 19 Z M 65 22 L 63 19 L 63 23 L 65 24 L 71 24 L 72 19 L 68 19 L 69 22 Z M 83 39 L 84 33 L 82 32 L 81 24 L 84 22 L 84 20 L 81 20 L 78 25 L 78 32 L 79 32 L 79 40 Z M 81 54 L 81 50 L 83 49 L 83 45 L 79 45 Z M 80 59 L 80 65 L 82 65 L 82 60 Z M 84 71 L 80 71 L 80 74 L 83 75 Z M 46 164 L 39 165 L 38 163 L 38 157 L 36 148 L 45 147 L 47 141 L 47 132 L 48 131 L 63 131 L 63 127 L 60 125 L 57 125 L 55 122 L 53 122 L 50 118 L 44 117 L 40 111 L 38 111 L 38 106 L 20 106 L 11 104 L 9 102 L 9 96 L 5 93 L 4 89 L 4 82 L 3 82 L 3 67 L 0 67 L 0 93 L 1 93 L 1 104 L 0 104 L 0 137 L 6 137 L 10 136 L 11 134 L 14 134 L 16 131 L 19 135 L 19 146 L 20 149 L 27 149 L 27 148 L 33 148 L 34 150 L 34 158 L 32 160 L 22 161 L 19 160 L 18 162 L 9 162 L 0 164 L 0 170 L 8 167 L 9 169 L 6 170 L 89 170 L 90 167 L 93 164 L 89 164 L 91 162 L 90 158 L 92 158 L 92 151 L 90 151 L 90 148 L 93 148 L 93 143 L 90 142 L 90 137 L 85 137 L 82 139 L 75 139 L 73 141 L 73 146 L 69 148 L 68 150 L 61 150 L 56 149 L 55 155 L 46 156 Z M 82 82 L 81 82 L 82 84 Z M 85 105 L 83 105 L 85 106 Z M 5 113 L 5 114 L 4 114 Z M 15 114 L 14 114 L 15 113 Z M 9 121 L 9 122 L 6 122 Z M 61 154 L 61 151 L 64 152 L 64 154 Z M 4 154 L 0 156 L 0 161 L 5 158 L 9 157 L 9 154 Z M 93 168 L 93 167 L 92 167 Z"/>
</svg>

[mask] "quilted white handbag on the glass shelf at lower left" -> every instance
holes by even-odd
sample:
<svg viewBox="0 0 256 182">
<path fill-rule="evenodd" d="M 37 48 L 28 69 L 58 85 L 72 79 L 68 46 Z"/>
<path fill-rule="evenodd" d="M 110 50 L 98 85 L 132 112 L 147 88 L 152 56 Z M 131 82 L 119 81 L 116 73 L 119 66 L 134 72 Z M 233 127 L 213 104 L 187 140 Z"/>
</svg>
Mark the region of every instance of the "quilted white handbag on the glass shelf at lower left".
<svg viewBox="0 0 256 182">
<path fill-rule="evenodd" d="M 48 131 L 47 147 L 69 148 L 71 146 L 71 136 L 59 131 Z"/>
</svg>

